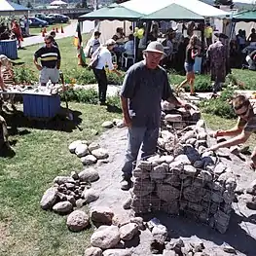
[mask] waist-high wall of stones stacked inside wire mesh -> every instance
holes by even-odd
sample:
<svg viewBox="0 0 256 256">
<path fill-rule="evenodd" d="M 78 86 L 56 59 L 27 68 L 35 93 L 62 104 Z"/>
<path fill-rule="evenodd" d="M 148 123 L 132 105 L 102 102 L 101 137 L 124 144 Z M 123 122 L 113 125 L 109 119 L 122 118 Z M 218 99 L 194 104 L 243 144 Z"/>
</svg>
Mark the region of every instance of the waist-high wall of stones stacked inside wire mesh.
<svg viewBox="0 0 256 256">
<path fill-rule="evenodd" d="M 167 139 L 164 130 L 165 138 L 160 138 L 165 152 L 135 166 L 131 208 L 135 213 L 161 210 L 193 216 L 225 233 L 237 187 L 235 176 L 213 152 L 205 151 L 209 141 L 203 121 L 187 129 Z"/>
</svg>

